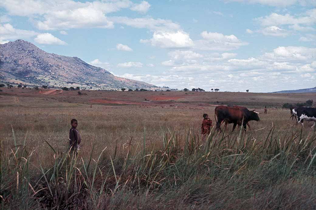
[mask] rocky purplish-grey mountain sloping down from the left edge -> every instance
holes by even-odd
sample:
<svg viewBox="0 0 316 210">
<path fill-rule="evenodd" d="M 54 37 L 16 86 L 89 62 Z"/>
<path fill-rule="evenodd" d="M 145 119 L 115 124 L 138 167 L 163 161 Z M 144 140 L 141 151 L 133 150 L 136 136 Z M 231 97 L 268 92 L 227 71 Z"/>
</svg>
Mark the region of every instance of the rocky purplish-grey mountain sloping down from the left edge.
<svg viewBox="0 0 316 210">
<path fill-rule="evenodd" d="M 77 57 L 47 53 L 21 39 L 0 44 L 0 72 L 2 82 L 25 85 L 89 89 L 158 88 L 145 82 L 116 77 Z"/>
</svg>

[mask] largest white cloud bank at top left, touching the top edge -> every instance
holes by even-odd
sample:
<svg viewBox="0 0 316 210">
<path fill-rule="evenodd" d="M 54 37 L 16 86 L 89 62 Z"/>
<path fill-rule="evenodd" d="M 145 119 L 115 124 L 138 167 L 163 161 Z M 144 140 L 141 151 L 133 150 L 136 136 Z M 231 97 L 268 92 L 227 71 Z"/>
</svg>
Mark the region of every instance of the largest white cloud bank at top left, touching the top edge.
<svg viewBox="0 0 316 210">
<path fill-rule="evenodd" d="M 23 5 L 23 6 L 21 6 Z M 106 14 L 129 8 L 129 0 L 76 2 L 72 0 L 3 0 L 9 15 L 27 16 L 40 30 L 113 28 Z"/>
</svg>

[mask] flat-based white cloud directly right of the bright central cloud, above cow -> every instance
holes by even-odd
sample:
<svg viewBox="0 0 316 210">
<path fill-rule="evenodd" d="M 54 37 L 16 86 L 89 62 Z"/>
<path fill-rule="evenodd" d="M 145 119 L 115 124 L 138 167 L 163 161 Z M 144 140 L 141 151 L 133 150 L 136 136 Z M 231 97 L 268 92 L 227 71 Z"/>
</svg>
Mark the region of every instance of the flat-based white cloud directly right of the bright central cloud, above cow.
<svg viewBox="0 0 316 210">
<path fill-rule="evenodd" d="M 197 49 L 199 50 L 235 50 L 241 46 L 247 45 L 247 42 L 239 40 L 235 35 L 224 35 L 216 32 L 202 32 L 204 39 L 196 40 Z"/>
</svg>

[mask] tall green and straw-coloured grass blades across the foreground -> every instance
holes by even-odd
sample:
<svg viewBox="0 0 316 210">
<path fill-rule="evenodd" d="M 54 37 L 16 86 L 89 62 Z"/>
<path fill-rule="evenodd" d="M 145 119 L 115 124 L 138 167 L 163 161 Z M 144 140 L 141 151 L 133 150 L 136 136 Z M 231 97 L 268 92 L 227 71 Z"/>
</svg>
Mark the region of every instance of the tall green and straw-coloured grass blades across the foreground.
<svg viewBox="0 0 316 210">
<path fill-rule="evenodd" d="M 148 142 L 144 129 L 143 142 L 96 158 L 94 146 L 82 157 L 46 141 L 53 161 L 43 163 L 12 128 L 14 147 L 1 146 L 1 208 L 315 208 L 315 131 L 258 132 L 212 131 L 201 141 L 167 129 Z"/>
</svg>

